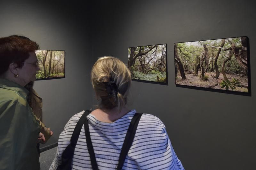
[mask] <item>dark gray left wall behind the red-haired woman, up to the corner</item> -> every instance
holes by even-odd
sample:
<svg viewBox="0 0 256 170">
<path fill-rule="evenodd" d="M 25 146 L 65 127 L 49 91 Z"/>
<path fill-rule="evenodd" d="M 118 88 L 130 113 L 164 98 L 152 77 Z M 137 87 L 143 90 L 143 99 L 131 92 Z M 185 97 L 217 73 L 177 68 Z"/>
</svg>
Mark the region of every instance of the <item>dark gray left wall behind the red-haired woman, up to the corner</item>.
<svg viewBox="0 0 256 170">
<path fill-rule="evenodd" d="M 66 52 L 66 78 L 35 82 L 35 90 L 43 98 L 43 122 L 54 132 L 41 147 L 56 143 L 71 116 L 92 105 L 87 9 L 86 5 L 63 1 L 0 2 L 0 37 L 24 35 L 36 41 L 40 49 Z"/>
</svg>

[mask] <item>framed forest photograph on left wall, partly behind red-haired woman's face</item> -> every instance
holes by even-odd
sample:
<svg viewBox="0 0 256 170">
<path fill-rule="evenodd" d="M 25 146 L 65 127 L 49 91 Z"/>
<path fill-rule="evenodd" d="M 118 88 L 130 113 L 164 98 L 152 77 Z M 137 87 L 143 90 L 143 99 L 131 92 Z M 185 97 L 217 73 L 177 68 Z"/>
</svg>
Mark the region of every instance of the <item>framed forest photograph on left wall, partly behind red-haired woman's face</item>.
<svg viewBox="0 0 256 170">
<path fill-rule="evenodd" d="M 40 70 L 36 80 L 65 78 L 65 51 L 36 50 Z"/>
</svg>

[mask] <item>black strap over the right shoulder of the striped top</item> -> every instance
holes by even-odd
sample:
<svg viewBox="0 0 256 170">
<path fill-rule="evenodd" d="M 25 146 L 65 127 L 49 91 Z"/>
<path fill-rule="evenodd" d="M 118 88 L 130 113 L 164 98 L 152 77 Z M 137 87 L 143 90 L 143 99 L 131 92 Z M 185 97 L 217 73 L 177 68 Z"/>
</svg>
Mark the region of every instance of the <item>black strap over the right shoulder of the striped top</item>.
<svg viewBox="0 0 256 170">
<path fill-rule="evenodd" d="M 130 123 L 130 126 L 127 130 L 125 139 L 124 139 L 124 143 L 123 143 L 123 147 L 120 153 L 120 157 L 119 157 L 119 161 L 118 161 L 118 165 L 117 165 L 117 170 L 121 170 L 123 165 L 124 165 L 124 160 L 126 158 L 126 155 L 128 154 L 128 151 L 130 150 L 131 146 L 132 146 L 132 142 L 133 142 L 133 138 L 134 135 L 136 133 L 136 129 L 137 126 L 139 124 L 140 121 L 140 117 L 142 116 L 142 113 L 135 113 L 132 121 Z"/>
</svg>

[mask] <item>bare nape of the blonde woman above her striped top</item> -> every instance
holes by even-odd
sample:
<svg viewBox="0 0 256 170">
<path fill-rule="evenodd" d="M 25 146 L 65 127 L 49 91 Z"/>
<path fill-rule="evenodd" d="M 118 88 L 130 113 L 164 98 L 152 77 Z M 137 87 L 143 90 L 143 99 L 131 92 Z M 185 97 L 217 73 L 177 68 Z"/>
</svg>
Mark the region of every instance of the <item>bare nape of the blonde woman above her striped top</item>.
<svg viewBox="0 0 256 170">
<path fill-rule="evenodd" d="M 117 108 L 113 108 L 113 109 L 101 108 L 101 109 L 96 109 L 92 111 L 91 114 L 101 122 L 112 123 L 118 120 L 119 118 L 123 117 L 128 112 L 130 112 L 130 110 L 125 107 L 121 109 L 121 112 Z"/>
</svg>

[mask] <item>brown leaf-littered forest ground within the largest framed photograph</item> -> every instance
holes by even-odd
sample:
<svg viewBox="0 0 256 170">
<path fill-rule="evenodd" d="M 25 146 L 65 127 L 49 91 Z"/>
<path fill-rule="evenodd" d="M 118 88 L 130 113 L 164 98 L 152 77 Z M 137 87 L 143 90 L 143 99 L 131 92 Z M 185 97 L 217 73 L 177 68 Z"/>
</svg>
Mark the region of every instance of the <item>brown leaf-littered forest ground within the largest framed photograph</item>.
<svg viewBox="0 0 256 170">
<path fill-rule="evenodd" d="M 176 77 L 176 84 L 180 84 L 180 85 L 187 85 L 187 86 L 196 86 L 196 87 L 205 87 L 208 88 L 208 86 L 212 86 L 218 83 L 218 85 L 211 87 L 212 89 L 221 89 L 221 85 L 220 82 L 224 80 L 223 78 L 223 74 L 220 73 L 220 76 L 218 79 L 212 78 L 212 76 L 214 76 L 216 73 L 215 72 L 207 72 L 205 73 L 205 75 L 208 76 L 208 80 L 206 81 L 200 81 L 200 72 L 198 72 L 197 76 L 194 76 L 194 74 L 192 73 L 186 73 L 186 77 L 187 79 L 182 80 L 180 73 L 178 73 L 178 76 Z M 247 86 L 248 87 L 248 78 L 247 77 L 241 77 L 239 75 L 236 74 L 230 74 L 230 73 L 226 73 L 228 80 L 231 81 L 233 78 L 238 79 L 241 82 L 241 85 Z M 223 90 L 225 90 L 225 88 L 222 88 Z M 231 90 L 230 88 L 228 90 Z M 236 89 L 234 89 L 233 91 L 241 91 L 241 92 L 248 92 L 247 88 L 244 87 L 236 87 Z"/>
</svg>

